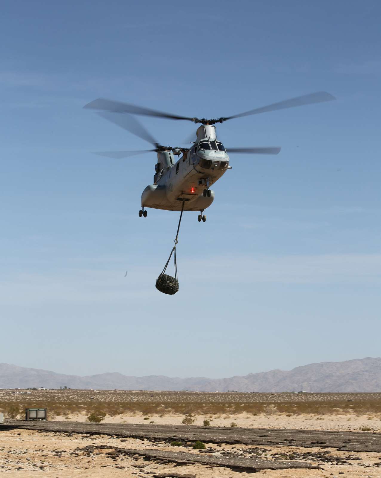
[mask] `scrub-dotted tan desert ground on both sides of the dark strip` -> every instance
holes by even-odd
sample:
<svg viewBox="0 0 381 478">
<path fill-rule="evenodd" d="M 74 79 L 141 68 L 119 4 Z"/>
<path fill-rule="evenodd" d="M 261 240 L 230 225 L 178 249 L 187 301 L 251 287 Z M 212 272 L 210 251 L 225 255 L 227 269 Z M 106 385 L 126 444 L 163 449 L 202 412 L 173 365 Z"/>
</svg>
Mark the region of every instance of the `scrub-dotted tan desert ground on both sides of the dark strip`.
<svg viewBox="0 0 381 478">
<path fill-rule="evenodd" d="M 30 392 L 30 393 L 28 393 Z M 381 433 L 381 394 L 200 393 L 149 391 L 2 390 L 0 411 L 22 418 L 25 407 L 48 409 L 48 419 L 86 421 L 90 413 L 106 413 L 103 423 L 191 424 Z M 7 415 L 8 414 L 8 415 Z M 189 423 L 189 422 L 188 422 Z M 91 445 L 90 452 L 84 448 Z M 103 447 L 102 447 L 103 446 Z M 106 446 L 106 448 L 105 448 Z M 0 472 L 9 477 L 96 478 L 195 475 L 197 478 L 242 477 L 227 467 L 203 464 L 176 466 L 144 457 L 113 456 L 117 448 L 160 449 L 187 453 L 296 459 L 320 469 L 262 470 L 266 478 L 381 478 L 381 451 L 345 452 L 334 448 L 228 445 L 205 443 L 171 446 L 137 438 L 0 429 Z M 100 447 L 100 448 L 97 448 Z M 344 462 L 344 463 L 343 463 Z"/>
</svg>

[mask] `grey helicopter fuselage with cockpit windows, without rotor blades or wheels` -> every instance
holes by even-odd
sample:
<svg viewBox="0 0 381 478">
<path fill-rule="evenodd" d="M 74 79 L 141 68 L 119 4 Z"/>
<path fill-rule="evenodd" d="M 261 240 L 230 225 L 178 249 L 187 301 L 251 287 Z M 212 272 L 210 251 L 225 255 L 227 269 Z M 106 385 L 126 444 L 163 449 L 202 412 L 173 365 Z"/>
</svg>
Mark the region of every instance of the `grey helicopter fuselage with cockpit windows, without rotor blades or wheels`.
<svg viewBox="0 0 381 478">
<path fill-rule="evenodd" d="M 180 211 L 202 211 L 209 207 L 214 192 L 209 187 L 228 169 L 229 156 L 216 141 L 215 127 L 203 125 L 197 130 L 197 141 L 174 163 L 173 153 L 158 152 L 154 184 L 141 196 L 141 206 Z M 205 191 L 208 191 L 205 195 Z"/>
</svg>

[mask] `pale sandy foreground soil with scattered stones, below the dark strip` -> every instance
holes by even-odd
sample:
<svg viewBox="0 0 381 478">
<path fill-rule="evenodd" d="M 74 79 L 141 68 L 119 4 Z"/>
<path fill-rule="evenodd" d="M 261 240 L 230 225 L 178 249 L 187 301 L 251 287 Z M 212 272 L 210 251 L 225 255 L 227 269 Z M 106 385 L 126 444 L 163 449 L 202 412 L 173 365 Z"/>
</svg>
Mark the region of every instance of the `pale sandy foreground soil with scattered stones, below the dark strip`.
<svg viewBox="0 0 381 478">
<path fill-rule="evenodd" d="M 122 457 L 117 460 L 106 456 L 107 450 L 99 450 L 92 456 L 85 456 L 83 452 L 76 450 L 86 445 L 107 445 L 121 448 L 161 448 L 172 450 L 168 444 L 151 443 L 134 438 L 112 438 L 105 435 L 66 435 L 63 433 L 46 433 L 34 430 L 2 430 L 0 431 L 0 472 L 4 477 L 19 478 L 111 478 L 111 477 L 141 477 L 150 478 L 157 473 L 177 472 L 192 473 L 197 478 L 242 478 L 243 474 L 234 472 L 229 468 L 208 467 L 204 465 L 175 466 L 174 464 L 157 464 L 139 458 L 134 461 L 130 457 Z M 230 451 L 242 453 L 250 447 L 248 445 L 212 445 L 212 452 Z M 255 476 L 260 478 L 360 478 L 381 477 L 381 454 L 380 453 L 355 453 L 339 452 L 328 449 L 334 456 L 355 456 L 361 460 L 351 461 L 353 465 L 335 465 L 331 463 L 320 464 L 319 470 L 265 470 Z M 176 451 L 199 453 L 189 448 L 176 447 Z M 320 448 L 303 449 L 299 447 L 274 446 L 260 448 L 261 456 L 266 459 L 279 459 L 277 452 L 287 453 L 314 453 L 326 451 Z M 275 455 L 275 456 L 273 456 Z M 319 463 L 315 460 L 314 465 Z"/>
</svg>

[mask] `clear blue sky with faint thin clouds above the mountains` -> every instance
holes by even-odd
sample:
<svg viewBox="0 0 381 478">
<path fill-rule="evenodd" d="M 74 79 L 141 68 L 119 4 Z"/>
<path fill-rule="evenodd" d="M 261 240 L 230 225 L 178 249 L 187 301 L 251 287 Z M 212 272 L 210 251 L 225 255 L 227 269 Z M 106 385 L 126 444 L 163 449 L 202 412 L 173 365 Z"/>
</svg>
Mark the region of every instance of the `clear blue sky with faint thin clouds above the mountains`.
<svg viewBox="0 0 381 478">
<path fill-rule="evenodd" d="M 0 362 L 226 377 L 380 355 L 377 1 L 4 1 Z M 148 143 L 98 97 L 220 117 L 231 155 L 205 224 L 185 213 L 180 292 L 155 289 L 179 214 L 148 210 Z M 140 117 L 162 144 L 195 126 Z M 125 272 L 128 271 L 125 278 Z M 5 337 L 5 338 L 4 338 Z"/>
</svg>

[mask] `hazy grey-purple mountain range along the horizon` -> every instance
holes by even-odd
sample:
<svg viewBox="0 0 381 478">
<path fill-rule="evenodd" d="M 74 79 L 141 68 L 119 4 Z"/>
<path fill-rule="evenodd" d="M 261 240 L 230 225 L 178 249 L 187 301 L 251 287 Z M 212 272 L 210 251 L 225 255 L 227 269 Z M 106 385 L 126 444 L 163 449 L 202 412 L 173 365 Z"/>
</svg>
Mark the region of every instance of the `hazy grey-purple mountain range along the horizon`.
<svg viewBox="0 0 381 478">
<path fill-rule="evenodd" d="M 312 363 L 292 370 L 270 370 L 226 379 L 180 379 L 163 375 L 132 377 L 118 372 L 79 377 L 0 364 L 0 388 L 64 386 L 104 390 L 380 392 L 381 358 Z"/>
</svg>

